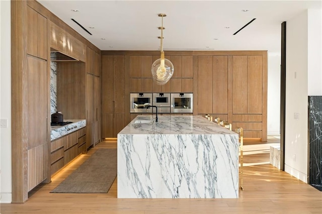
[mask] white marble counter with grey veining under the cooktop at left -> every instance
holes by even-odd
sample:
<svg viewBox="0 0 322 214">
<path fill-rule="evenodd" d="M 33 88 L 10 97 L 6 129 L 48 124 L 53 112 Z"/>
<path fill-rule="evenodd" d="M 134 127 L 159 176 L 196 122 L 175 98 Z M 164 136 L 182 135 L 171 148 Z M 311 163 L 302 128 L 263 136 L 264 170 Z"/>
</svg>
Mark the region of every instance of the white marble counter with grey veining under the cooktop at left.
<svg viewBox="0 0 322 214">
<path fill-rule="evenodd" d="M 78 129 L 86 127 L 86 120 L 65 120 L 73 122 L 65 126 L 52 126 L 50 131 L 50 140 L 53 141 L 57 138 L 60 138 L 64 135 L 72 133 Z"/>
</svg>

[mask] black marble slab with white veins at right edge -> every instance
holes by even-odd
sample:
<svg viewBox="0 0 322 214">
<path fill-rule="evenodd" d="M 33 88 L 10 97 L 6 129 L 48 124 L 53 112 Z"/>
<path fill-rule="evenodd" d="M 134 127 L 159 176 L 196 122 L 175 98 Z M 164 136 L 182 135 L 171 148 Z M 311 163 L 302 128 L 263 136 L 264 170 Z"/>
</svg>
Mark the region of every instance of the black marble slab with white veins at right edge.
<svg viewBox="0 0 322 214">
<path fill-rule="evenodd" d="M 322 191 L 322 96 L 308 97 L 309 178 Z"/>
</svg>

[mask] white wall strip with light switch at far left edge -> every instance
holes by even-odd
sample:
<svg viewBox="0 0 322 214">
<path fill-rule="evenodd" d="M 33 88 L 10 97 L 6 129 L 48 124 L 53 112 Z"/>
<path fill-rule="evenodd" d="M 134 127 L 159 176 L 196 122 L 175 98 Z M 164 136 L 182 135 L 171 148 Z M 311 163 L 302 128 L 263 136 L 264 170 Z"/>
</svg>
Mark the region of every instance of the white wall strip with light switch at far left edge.
<svg viewBox="0 0 322 214">
<path fill-rule="evenodd" d="M 0 202 L 12 201 L 11 188 L 11 24 L 10 1 L 0 1 L 0 118 L 8 128 L 0 128 Z"/>
</svg>

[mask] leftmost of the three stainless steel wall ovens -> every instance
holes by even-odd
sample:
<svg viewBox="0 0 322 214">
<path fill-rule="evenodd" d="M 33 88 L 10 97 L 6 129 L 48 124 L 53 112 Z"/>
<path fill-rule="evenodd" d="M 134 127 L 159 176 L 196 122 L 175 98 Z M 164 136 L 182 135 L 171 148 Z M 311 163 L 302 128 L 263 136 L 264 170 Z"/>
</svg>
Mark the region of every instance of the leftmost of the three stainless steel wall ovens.
<svg viewBox="0 0 322 214">
<path fill-rule="evenodd" d="M 152 93 L 130 93 L 130 113 L 152 113 L 152 109 L 146 111 L 149 105 L 152 105 Z"/>
</svg>

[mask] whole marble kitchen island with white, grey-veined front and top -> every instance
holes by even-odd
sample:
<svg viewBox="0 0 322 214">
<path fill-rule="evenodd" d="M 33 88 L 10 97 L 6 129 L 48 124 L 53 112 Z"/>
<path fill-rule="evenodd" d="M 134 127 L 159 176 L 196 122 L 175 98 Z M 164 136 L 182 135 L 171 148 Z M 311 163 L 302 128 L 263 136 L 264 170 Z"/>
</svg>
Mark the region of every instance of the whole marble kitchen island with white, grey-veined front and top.
<svg viewBox="0 0 322 214">
<path fill-rule="evenodd" d="M 238 198 L 238 135 L 201 116 L 137 116 L 117 151 L 118 198 Z"/>
</svg>

